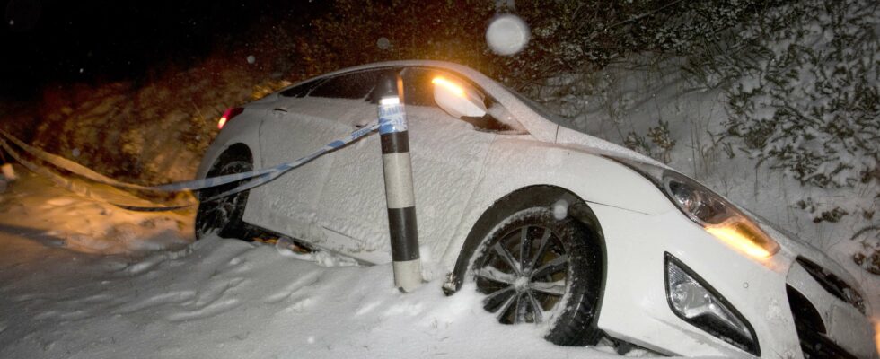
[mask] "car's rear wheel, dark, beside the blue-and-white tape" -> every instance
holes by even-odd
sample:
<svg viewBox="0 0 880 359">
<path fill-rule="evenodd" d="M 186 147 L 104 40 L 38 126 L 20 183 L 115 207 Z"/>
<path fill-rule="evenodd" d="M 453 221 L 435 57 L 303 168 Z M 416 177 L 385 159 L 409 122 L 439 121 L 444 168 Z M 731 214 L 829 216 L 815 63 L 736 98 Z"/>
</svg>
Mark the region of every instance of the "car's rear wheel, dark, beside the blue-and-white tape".
<svg viewBox="0 0 880 359">
<path fill-rule="evenodd" d="M 207 177 L 253 171 L 253 163 L 247 154 L 224 153 L 217 163 L 207 172 Z M 232 188 L 236 188 L 248 180 L 240 180 L 215 188 L 207 188 L 198 193 L 200 202 L 196 213 L 196 238 L 200 239 L 216 233 L 221 237 L 246 237 L 246 226 L 242 222 L 244 207 L 248 202 L 248 191 L 238 192 L 231 196 L 208 200 Z"/>
</svg>

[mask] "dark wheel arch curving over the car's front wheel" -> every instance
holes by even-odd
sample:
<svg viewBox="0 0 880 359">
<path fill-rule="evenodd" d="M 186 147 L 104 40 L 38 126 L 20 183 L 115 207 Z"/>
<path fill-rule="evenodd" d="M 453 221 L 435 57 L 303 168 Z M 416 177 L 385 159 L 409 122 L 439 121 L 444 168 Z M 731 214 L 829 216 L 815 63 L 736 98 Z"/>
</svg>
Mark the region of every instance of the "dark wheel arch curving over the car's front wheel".
<svg viewBox="0 0 880 359">
<path fill-rule="evenodd" d="M 518 188 L 504 197 L 499 198 L 495 203 L 489 206 L 488 209 L 480 215 L 480 218 L 476 223 L 473 224 L 471 231 L 465 238 L 461 250 L 459 251 L 458 258 L 455 261 L 452 277 L 444 285 L 444 292 L 452 294 L 461 288 L 467 269 L 471 264 L 471 258 L 480 246 L 480 241 L 482 241 L 482 239 L 497 226 L 497 223 L 501 223 L 506 217 L 525 208 L 534 206 L 552 207 L 559 200 L 565 200 L 568 202 L 568 215 L 575 218 L 579 223 L 584 224 L 587 231 L 595 236 L 595 241 L 597 241 L 599 248 L 602 250 L 602 278 L 600 282 L 602 287 L 599 288 L 599 308 L 601 308 L 605 277 L 608 273 L 608 256 L 606 253 L 602 225 L 599 223 L 598 217 L 596 217 L 593 210 L 583 198 L 578 197 L 574 192 L 566 188 L 553 185 L 531 185 L 524 188 Z"/>
</svg>

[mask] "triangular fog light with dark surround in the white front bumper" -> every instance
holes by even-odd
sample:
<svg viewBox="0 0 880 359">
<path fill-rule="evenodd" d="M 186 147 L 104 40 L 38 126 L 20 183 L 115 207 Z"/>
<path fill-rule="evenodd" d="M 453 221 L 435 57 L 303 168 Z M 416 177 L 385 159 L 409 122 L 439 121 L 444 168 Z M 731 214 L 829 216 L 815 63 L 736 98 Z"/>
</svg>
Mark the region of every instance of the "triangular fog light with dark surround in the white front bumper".
<svg viewBox="0 0 880 359">
<path fill-rule="evenodd" d="M 760 356 L 752 326 L 690 268 L 666 253 L 666 297 L 679 318 L 727 343 Z"/>
</svg>

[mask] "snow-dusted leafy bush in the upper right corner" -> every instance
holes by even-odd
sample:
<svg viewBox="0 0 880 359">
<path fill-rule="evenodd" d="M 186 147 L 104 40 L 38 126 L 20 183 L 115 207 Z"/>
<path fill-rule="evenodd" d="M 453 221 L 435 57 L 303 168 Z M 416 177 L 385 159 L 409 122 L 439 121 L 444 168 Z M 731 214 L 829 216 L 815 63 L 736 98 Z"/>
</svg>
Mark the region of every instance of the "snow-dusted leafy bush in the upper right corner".
<svg viewBox="0 0 880 359">
<path fill-rule="evenodd" d="M 876 11 L 866 0 L 782 5 L 691 72 L 726 87 L 727 135 L 762 162 L 819 187 L 878 180 Z"/>
</svg>

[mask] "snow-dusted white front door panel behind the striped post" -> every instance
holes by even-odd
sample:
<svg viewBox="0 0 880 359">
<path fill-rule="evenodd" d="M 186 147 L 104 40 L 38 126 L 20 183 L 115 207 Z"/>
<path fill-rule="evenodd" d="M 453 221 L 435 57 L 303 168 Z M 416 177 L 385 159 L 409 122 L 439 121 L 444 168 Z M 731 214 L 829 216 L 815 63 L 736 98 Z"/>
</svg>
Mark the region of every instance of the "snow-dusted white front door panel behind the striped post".
<svg viewBox="0 0 880 359">
<path fill-rule="evenodd" d="M 416 198 L 419 243 L 426 258 L 446 243 L 461 218 L 463 204 L 480 176 L 495 134 L 472 131 L 470 125 L 441 118 L 439 109 L 407 107 L 409 146 Z M 351 240 L 349 256 L 381 252 L 378 263 L 391 261 L 381 146 L 378 136 L 332 153 L 337 163 L 325 185 L 319 212 L 321 226 Z M 352 186 L 357 179 L 357 186 Z M 356 240 L 354 240 L 356 239 Z"/>
</svg>

